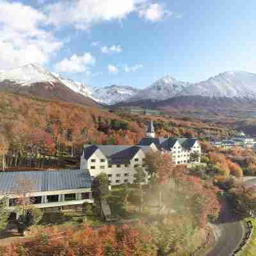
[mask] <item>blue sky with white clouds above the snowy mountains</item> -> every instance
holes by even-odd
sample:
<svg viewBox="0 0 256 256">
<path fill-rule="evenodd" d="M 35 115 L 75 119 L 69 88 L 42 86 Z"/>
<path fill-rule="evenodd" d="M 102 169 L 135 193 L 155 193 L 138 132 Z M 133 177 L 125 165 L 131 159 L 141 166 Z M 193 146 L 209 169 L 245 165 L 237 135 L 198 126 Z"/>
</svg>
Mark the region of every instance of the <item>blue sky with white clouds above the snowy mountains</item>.
<svg viewBox="0 0 256 256">
<path fill-rule="evenodd" d="M 254 0 L 0 0 L 0 70 L 40 63 L 90 86 L 256 73 Z"/>
</svg>

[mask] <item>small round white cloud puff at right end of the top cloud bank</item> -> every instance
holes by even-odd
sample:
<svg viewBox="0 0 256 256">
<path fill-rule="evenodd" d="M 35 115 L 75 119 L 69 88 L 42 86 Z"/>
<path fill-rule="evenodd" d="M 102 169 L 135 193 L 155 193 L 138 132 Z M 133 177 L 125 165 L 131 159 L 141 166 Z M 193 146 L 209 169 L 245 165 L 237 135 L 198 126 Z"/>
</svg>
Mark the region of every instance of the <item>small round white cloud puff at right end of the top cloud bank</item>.
<svg viewBox="0 0 256 256">
<path fill-rule="evenodd" d="M 158 20 L 162 20 L 166 16 L 170 16 L 173 13 L 165 10 L 161 4 L 152 3 L 148 6 L 144 6 L 141 10 L 139 10 L 139 16 L 143 17 L 145 20 L 150 20 L 152 22 L 156 22 Z"/>
</svg>

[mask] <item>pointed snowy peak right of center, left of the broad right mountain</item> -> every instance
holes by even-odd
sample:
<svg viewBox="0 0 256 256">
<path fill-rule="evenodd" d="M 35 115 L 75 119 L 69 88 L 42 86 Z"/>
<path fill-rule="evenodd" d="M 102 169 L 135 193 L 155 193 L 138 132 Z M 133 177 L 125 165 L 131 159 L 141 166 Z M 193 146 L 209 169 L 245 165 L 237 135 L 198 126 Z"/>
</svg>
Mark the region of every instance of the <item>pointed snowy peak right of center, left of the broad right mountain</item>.
<svg viewBox="0 0 256 256">
<path fill-rule="evenodd" d="M 147 88 L 141 90 L 139 93 L 129 98 L 127 101 L 136 101 L 136 100 L 165 100 L 172 97 L 179 92 L 182 92 L 185 88 L 191 86 L 190 83 L 185 83 L 177 81 L 173 77 L 166 76 L 163 77 Z"/>
</svg>

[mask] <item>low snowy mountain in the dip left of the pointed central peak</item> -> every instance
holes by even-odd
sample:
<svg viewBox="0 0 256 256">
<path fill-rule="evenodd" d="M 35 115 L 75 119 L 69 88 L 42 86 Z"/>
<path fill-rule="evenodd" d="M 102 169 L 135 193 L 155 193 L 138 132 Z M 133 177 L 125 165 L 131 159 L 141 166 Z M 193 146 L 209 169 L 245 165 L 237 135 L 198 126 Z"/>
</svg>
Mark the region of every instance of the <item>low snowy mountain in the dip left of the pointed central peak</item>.
<svg viewBox="0 0 256 256">
<path fill-rule="evenodd" d="M 92 93 L 93 99 L 104 104 L 113 105 L 124 102 L 136 95 L 140 90 L 131 86 L 111 85 L 102 88 L 95 88 Z"/>
</svg>

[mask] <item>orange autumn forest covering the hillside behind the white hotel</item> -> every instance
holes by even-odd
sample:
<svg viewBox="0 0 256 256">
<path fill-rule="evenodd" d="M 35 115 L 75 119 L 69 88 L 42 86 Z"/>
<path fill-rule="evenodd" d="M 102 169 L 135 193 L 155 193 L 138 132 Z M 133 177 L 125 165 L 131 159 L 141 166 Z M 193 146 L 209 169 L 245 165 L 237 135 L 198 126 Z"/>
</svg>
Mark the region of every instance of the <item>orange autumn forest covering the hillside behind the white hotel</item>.
<svg viewBox="0 0 256 256">
<path fill-rule="evenodd" d="M 84 143 L 138 143 L 150 119 L 160 136 L 207 140 L 235 134 L 223 124 L 191 118 L 110 113 L 104 108 L 1 92 L 0 167 L 61 167 L 60 161 L 66 160 L 76 165 L 72 158 L 80 156 Z"/>
</svg>

